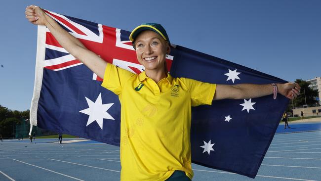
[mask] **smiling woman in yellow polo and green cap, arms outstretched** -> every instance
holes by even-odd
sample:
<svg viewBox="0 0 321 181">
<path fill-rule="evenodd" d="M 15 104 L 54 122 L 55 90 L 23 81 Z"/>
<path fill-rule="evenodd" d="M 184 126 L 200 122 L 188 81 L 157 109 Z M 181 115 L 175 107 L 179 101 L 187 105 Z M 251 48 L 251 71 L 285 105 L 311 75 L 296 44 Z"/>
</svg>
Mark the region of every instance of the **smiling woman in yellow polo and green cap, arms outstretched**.
<svg viewBox="0 0 321 181">
<path fill-rule="evenodd" d="M 172 78 L 165 66 L 170 42 L 160 24 L 136 27 L 130 40 L 145 67 L 139 75 L 107 63 L 62 29 L 40 7 L 28 6 L 26 18 L 45 25 L 68 52 L 103 77 L 102 86 L 119 95 L 121 103 L 120 180 L 190 181 L 191 106 L 219 99 L 244 99 L 277 92 L 293 99 L 300 87 L 274 85 L 216 85 Z"/>
</svg>

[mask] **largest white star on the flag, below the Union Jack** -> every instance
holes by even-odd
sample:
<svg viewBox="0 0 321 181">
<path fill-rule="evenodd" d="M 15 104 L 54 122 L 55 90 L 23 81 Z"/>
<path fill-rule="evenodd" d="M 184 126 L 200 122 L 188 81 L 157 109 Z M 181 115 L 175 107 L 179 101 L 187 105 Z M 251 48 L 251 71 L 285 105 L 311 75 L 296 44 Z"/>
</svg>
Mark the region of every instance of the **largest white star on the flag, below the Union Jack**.
<svg viewBox="0 0 321 181">
<path fill-rule="evenodd" d="M 89 115 L 87 125 L 90 125 L 92 122 L 96 121 L 103 130 L 103 119 L 112 119 L 115 120 L 110 114 L 108 114 L 107 110 L 114 104 L 114 103 L 109 103 L 109 104 L 103 104 L 101 100 L 101 93 L 99 93 L 97 99 L 95 102 L 91 101 L 87 97 L 85 97 L 87 100 L 88 108 L 83 109 L 79 112 L 84 113 Z"/>
</svg>

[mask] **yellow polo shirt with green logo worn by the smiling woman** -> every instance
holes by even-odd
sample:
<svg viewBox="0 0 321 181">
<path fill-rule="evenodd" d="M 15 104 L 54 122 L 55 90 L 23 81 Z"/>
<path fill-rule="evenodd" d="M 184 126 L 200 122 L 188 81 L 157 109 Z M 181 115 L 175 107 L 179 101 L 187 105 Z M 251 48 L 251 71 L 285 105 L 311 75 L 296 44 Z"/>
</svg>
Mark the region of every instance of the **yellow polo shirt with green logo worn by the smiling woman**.
<svg viewBox="0 0 321 181">
<path fill-rule="evenodd" d="M 210 105 L 216 85 L 169 74 L 155 83 L 108 64 L 102 86 L 121 104 L 120 180 L 164 181 L 175 170 L 192 179 L 191 106 Z"/>
</svg>

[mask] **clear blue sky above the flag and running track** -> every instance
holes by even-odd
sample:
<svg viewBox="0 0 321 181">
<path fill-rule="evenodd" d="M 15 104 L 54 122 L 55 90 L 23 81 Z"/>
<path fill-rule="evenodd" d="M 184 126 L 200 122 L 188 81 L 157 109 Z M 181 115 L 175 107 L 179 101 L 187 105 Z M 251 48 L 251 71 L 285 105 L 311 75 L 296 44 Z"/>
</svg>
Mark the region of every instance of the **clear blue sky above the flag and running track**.
<svg viewBox="0 0 321 181">
<path fill-rule="evenodd" d="M 321 0 L 5 0 L 1 2 L 0 105 L 30 109 L 37 26 L 27 5 L 131 31 L 164 26 L 170 42 L 286 81 L 321 76 Z"/>
</svg>

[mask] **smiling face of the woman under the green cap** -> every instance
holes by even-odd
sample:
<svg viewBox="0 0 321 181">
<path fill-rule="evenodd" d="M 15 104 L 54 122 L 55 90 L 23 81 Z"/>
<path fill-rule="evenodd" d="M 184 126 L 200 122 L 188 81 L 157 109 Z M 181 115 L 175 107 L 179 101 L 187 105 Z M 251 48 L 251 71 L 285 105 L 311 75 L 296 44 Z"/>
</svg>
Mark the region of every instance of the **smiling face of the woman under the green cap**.
<svg viewBox="0 0 321 181">
<path fill-rule="evenodd" d="M 159 34 L 150 30 L 142 31 L 137 36 L 135 45 L 137 59 L 146 71 L 164 71 L 165 55 L 169 53 L 170 47 Z"/>
</svg>

